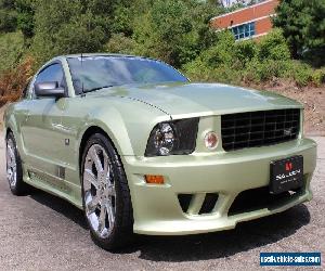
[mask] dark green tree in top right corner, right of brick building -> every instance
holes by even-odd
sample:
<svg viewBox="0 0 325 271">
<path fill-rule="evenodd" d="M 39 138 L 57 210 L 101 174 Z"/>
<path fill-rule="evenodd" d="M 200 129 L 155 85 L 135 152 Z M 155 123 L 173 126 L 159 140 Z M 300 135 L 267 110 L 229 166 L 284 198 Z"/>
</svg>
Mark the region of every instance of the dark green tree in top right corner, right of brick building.
<svg viewBox="0 0 325 271">
<path fill-rule="evenodd" d="M 282 0 L 276 14 L 273 24 L 283 29 L 295 59 L 325 51 L 324 0 Z"/>
</svg>

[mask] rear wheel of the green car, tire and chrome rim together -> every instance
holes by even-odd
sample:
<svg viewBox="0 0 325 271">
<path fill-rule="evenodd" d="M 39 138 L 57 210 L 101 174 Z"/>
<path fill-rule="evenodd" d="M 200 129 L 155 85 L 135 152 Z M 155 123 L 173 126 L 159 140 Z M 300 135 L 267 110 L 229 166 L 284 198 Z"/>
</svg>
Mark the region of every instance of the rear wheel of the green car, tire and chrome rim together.
<svg viewBox="0 0 325 271">
<path fill-rule="evenodd" d="M 6 179 L 12 194 L 16 196 L 25 195 L 29 191 L 29 185 L 23 181 L 23 167 L 17 144 L 12 132 L 5 139 Z"/>
</svg>

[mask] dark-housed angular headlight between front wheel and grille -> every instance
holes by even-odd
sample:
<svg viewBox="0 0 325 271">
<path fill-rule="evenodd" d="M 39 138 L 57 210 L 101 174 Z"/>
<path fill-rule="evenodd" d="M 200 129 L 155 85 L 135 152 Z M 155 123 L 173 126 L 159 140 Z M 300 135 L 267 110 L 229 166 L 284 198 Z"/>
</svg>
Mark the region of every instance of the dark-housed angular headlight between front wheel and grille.
<svg viewBox="0 0 325 271">
<path fill-rule="evenodd" d="M 145 156 L 190 154 L 195 149 L 198 118 L 160 122 L 151 132 Z"/>
</svg>

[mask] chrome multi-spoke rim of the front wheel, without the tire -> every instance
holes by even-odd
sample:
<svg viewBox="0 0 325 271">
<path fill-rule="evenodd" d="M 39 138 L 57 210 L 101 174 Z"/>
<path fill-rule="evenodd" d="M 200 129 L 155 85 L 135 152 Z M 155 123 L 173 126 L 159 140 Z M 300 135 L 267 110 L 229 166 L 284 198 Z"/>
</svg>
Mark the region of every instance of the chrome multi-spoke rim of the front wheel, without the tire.
<svg viewBox="0 0 325 271">
<path fill-rule="evenodd" d="M 88 150 L 82 177 L 87 219 L 92 230 L 106 238 L 114 228 L 116 191 L 108 155 L 100 144 Z"/>
</svg>

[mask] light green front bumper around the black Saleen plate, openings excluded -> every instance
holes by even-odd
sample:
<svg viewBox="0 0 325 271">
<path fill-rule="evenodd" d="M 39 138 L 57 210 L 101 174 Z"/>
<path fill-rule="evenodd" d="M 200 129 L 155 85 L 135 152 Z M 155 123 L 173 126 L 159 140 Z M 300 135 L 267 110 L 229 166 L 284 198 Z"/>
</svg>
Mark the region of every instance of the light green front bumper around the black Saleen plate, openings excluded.
<svg viewBox="0 0 325 271">
<path fill-rule="evenodd" d="M 299 193 L 272 206 L 235 215 L 229 212 L 240 192 L 269 185 L 272 160 L 295 155 L 303 156 L 304 186 Z M 213 155 L 123 156 L 133 206 L 133 230 L 151 235 L 213 232 L 284 211 L 312 198 L 310 181 L 315 164 L 316 143 L 309 139 Z M 144 175 L 161 175 L 166 183 L 147 184 Z M 206 193 L 218 193 L 218 201 L 210 214 L 198 215 Z M 179 194 L 192 195 L 190 211 L 181 208 Z"/>
</svg>

